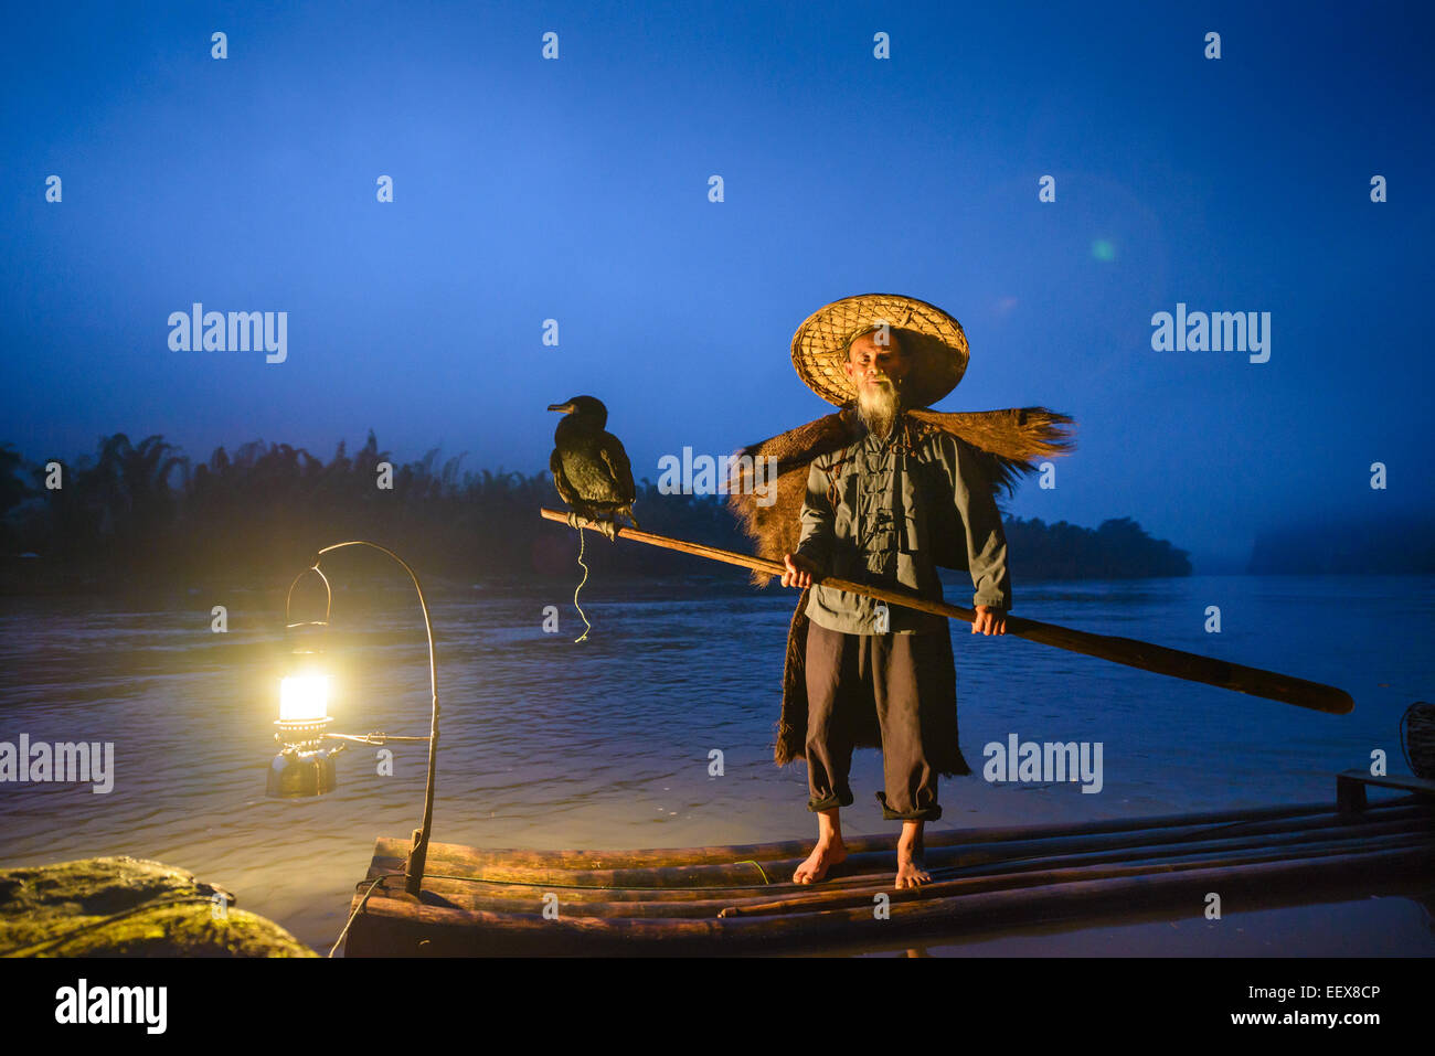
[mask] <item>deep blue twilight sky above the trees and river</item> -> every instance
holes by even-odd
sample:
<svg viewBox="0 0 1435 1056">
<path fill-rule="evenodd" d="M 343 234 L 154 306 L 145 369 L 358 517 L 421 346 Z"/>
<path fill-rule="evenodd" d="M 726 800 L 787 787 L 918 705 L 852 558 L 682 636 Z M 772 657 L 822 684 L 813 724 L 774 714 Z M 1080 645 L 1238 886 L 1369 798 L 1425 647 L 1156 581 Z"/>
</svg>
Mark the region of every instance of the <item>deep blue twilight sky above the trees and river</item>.
<svg viewBox="0 0 1435 1056">
<path fill-rule="evenodd" d="M 1013 514 L 1129 515 L 1198 560 L 1429 514 L 1432 24 L 1389 3 L 17 9 L 0 442 L 327 459 L 372 428 L 400 459 L 537 472 L 544 407 L 593 393 L 657 479 L 683 446 L 825 413 L 792 331 L 893 291 L 966 329 L 940 409 L 1076 418 L 1058 486 Z M 287 362 L 172 352 L 194 301 L 287 311 Z M 1154 352 L 1178 301 L 1271 313 L 1270 362 Z"/>
</svg>

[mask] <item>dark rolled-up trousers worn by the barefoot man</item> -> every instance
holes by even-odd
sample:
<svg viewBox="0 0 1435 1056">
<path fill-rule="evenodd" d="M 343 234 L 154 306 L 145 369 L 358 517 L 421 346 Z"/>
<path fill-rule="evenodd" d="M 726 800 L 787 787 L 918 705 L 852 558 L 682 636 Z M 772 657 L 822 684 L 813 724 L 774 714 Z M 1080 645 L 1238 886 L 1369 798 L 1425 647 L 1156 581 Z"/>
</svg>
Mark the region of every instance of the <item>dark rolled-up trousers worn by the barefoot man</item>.
<svg viewBox="0 0 1435 1056">
<path fill-rule="evenodd" d="M 943 631 L 944 633 L 944 631 Z M 933 647 L 933 634 L 842 634 L 808 624 L 808 809 L 850 806 L 847 775 L 852 765 L 857 709 L 877 709 L 883 735 L 885 795 L 877 793 L 883 818 L 936 821 L 937 772 L 927 763 L 918 700 L 936 699 L 936 663 L 950 666 Z M 870 715 L 870 712 L 868 712 Z"/>
</svg>

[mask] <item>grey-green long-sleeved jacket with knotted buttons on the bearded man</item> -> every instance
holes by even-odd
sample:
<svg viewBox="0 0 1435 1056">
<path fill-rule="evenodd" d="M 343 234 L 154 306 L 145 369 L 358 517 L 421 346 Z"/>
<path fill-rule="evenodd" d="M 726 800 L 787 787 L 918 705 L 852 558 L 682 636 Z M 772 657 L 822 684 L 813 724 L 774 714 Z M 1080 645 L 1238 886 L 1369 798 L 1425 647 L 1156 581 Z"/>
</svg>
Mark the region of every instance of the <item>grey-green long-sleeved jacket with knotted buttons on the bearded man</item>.
<svg viewBox="0 0 1435 1056">
<path fill-rule="evenodd" d="M 973 605 L 1012 607 L 1006 535 L 992 486 L 971 448 L 934 432 L 901 451 L 871 433 L 812 461 L 796 552 L 827 575 L 941 600 L 937 558 L 966 565 Z M 835 504 L 829 501 L 829 489 Z M 954 514 L 954 517 L 953 517 Z M 964 560 L 963 560 L 964 552 Z M 806 616 L 847 634 L 946 631 L 947 620 L 815 585 Z"/>
</svg>

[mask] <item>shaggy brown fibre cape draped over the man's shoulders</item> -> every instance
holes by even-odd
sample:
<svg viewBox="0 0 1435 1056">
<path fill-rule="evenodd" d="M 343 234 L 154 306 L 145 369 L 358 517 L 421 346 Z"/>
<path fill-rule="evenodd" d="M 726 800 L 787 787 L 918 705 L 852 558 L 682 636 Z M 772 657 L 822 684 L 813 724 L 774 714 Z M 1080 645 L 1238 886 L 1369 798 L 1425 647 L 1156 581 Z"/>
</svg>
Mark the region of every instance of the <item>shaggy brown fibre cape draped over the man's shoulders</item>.
<svg viewBox="0 0 1435 1056">
<path fill-rule="evenodd" d="M 904 428 L 913 440 L 920 440 L 933 430 L 946 432 L 964 440 L 963 455 L 974 455 L 992 485 L 993 496 L 1002 488 L 1007 496 L 1015 494 L 1016 484 L 1026 473 L 1036 471 L 1038 459 L 1068 455 L 1075 449 L 1071 430 L 1072 419 L 1046 407 L 1009 407 L 1006 410 L 980 410 L 946 413 L 938 410 L 907 410 L 903 413 Z M 751 484 L 745 479 L 752 461 L 735 462 L 729 486 L 728 505 L 736 514 L 743 531 L 752 537 L 759 557 L 782 561 L 785 554 L 798 548 L 802 534 L 801 512 L 806 498 L 808 466 L 812 459 L 845 448 L 862 436 L 864 426 L 850 405 L 815 422 L 753 443 L 738 452 L 738 459 L 749 456 L 775 456 L 778 459 L 776 499 L 766 506 L 758 505 Z M 769 484 L 771 486 L 771 484 Z M 960 541 L 960 534 L 953 542 Z M 936 561 L 947 568 L 966 568 L 964 545 L 954 545 L 936 552 Z M 755 571 L 752 581 L 766 587 L 772 577 Z M 788 627 L 786 661 L 782 671 L 782 716 L 776 723 L 776 742 L 772 758 L 778 766 L 806 756 L 806 601 L 802 591 L 792 623 Z M 950 646 L 950 637 L 947 640 Z M 951 676 L 951 706 L 941 709 L 938 742 L 931 755 L 931 766 L 940 773 L 964 775 L 970 768 L 957 746 L 956 715 L 956 671 Z M 950 715 L 949 715 L 950 712 Z M 864 716 L 854 730 L 857 748 L 881 748 L 881 730 L 875 712 Z"/>
</svg>

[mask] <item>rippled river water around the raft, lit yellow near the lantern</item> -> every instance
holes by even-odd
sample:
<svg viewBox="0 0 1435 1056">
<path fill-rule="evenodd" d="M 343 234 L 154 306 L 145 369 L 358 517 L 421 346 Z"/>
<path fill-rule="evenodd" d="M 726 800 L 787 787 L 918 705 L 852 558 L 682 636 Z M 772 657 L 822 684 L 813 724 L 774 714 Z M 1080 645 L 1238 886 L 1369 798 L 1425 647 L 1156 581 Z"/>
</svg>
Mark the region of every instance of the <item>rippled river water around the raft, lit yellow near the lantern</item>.
<svg viewBox="0 0 1435 1056">
<path fill-rule="evenodd" d="M 934 828 L 1079 821 L 1333 801 L 1335 773 L 1401 759 L 1405 707 L 1435 690 L 1435 577 L 1190 577 L 1017 584 L 1016 614 L 1155 641 L 1340 686 L 1329 716 L 954 624 L 963 752 Z M 336 581 L 334 729 L 428 733 L 428 664 L 412 590 Z M 474 847 L 649 848 L 815 832 L 802 765 L 772 765 L 794 593 L 740 574 L 571 587 L 451 585 L 430 600 L 442 750 L 433 839 Z M 956 580 L 947 597 L 969 603 Z M 228 630 L 214 633 L 211 607 Z M 554 605 L 558 633 L 544 631 Z M 1207 608 L 1220 607 L 1220 633 Z M 298 618 L 298 617 L 296 617 Z M 310 618 L 310 617 L 306 617 Z M 113 791 L 0 783 L 0 867 L 154 858 L 234 891 L 327 953 L 376 836 L 418 826 L 426 750 L 339 758 L 340 786 L 264 796 L 274 753 L 283 597 L 235 590 L 164 604 L 0 600 L 0 742 L 113 742 Z M 994 783 L 1009 735 L 1101 742 L 1102 788 Z M 723 773 L 710 769 L 722 750 Z M 881 758 L 858 752 L 848 834 L 883 832 Z M 1373 793 L 1380 795 L 1380 793 Z M 1435 881 L 1415 897 L 1104 920 L 928 947 L 937 954 L 1431 954 Z M 883 951 L 857 951 L 883 953 Z M 893 953 L 901 953 L 893 951 Z"/>
</svg>

